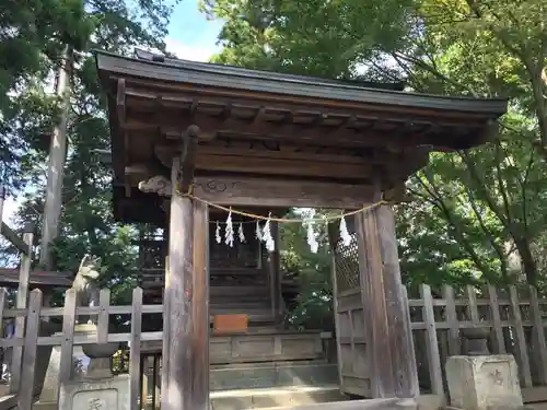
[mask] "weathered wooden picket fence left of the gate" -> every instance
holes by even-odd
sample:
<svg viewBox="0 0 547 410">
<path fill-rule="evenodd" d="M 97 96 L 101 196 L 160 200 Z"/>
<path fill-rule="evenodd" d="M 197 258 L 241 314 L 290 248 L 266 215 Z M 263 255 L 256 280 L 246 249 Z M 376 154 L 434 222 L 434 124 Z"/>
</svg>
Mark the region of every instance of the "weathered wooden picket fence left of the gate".
<svg viewBox="0 0 547 410">
<path fill-rule="evenodd" d="M 0 289 L 0 306 L 5 300 L 7 291 Z M 21 323 L 25 323 L 21 327 L 22 331 L 16 332 L 12 338 L 0 339 L 0 347 L 4 349 L 13 348 L 13 352 L 23 350 L 23 360 L 20 363 L 15 360 L 14 354 L 12 360 L 12 375 L 18 374 L 20 377 L 12 377 L 11 383 L 18 384 L 18 406 L 20 410 L 30 410 L 34 400 L 34 391 L 30 388 L 21 388 L 22 386 L 34 386 L 36 383 L 36 366 L 38 347 L 61 347 L 61 360 L 59 370 L 59 388 L 62 389 L 63 383 L 69 382 L 73 370 L 73 347 L 92 344 L 92 343 L 129 343 L 129 374 L 130 374 L 130 400 L 131 409 L 139 408 L 140 386 L 141 386 L 141 342 L 162 340 L 162 332 L 142 332 L 141 324 L 144 314 L 158 314 L 163 312 L 162 305 L 143 305 L 142 290 L 135 289 L 132 293 L 132 304 L 129 306 L 112 306 L 109 304 L 109 290 L 101 290 L 100 306 L 96 307 L 77 307 L 75 293 L 69 290 L 65 297 L 65 307 L 43 307 L 43 294 L 39 290 L 34 290 L 30 294 L 28 307 L 3 309 L 0 313 L 0 320 L 15 318 Z M 81 315 L 91 315 L 97 318 L 96 335 L 79 335 L 74 332 L 77 317 Z M 109 332 L 110 315 L 130 315 L 130 332 Z M 40 324 L 44 324 L 44 318 L 62 318 L 62 332 L 57 336 L 39 336 Z M 25 320 L 26 319 L 26 320 Z M 14 386 L 15 387 L 15 386 Z"/>
</svg>

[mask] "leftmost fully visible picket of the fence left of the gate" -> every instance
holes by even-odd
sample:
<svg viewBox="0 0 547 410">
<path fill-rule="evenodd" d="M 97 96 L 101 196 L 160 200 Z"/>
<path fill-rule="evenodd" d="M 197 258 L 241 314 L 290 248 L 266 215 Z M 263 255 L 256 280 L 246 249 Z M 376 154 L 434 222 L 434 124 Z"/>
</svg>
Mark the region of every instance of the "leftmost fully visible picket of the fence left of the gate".
<svg viewBox="0 0 547 410">
<path fill-rule="evenodd" d="M 21 388 L 18 394 L 18 409 L 32 410 L 34 400 L 34 374 L 36 351 L 38 348 L 39 314 L 42 309 L 42 291 L 35 289 L 31 293 L 26 311 L 26 331 L 24 337 L 24 356 L 21 373 Z"/>
</svg>

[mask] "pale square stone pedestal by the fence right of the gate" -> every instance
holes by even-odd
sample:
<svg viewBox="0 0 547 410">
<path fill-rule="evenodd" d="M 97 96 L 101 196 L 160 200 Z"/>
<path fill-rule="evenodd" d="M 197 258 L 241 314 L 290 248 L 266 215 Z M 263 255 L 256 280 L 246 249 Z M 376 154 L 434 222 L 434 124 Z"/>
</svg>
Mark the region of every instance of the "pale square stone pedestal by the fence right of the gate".
<svg viewBox="0 0 547 410">
<path fill-rule="evenodd" d="M 451 356 L 446 361 L 446 379 L 452 407 L 465 410 L 523 407 L 512 355 Z"/>
</svg>

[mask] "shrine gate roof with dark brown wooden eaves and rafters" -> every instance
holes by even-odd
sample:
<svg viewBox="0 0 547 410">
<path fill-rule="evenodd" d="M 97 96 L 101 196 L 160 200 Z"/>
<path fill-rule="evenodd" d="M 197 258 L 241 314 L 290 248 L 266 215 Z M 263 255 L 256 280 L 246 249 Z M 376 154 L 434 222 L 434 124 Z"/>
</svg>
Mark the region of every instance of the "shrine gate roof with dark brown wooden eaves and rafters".
<svg viewBox="0 0 547 410">
<path fill-rule="evenodd" d="M 154 222 L 161 198 L 138 184 L 168 177 L 190 125 L 201 132 L 198 179 L 267 178 L 274 190 L 289 179 L 301 181 L 301 190 L 335 184 L 348 196 L 351 187 L 364 192 L 358 202 L 375 179 L 384 191 L 404 185 L 431 151 L 493 138 L 507 110 L 507 99 L 407 93 L 401 83 L 280 74 L 146 51 L 136 58 L 97 51 L 96 63 L 108 102 L 115 215 L 125 221 Z"/>
</svg>

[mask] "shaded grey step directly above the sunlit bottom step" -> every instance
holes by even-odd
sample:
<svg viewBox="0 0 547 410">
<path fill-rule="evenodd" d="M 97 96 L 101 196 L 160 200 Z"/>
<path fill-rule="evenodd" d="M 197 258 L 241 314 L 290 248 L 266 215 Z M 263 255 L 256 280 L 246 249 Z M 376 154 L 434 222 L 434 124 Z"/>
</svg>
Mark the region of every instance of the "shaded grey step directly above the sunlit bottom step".
<svg viewBox="0 0 547 410">
<path fill-rule="evenodd" d="M 322 386 L 338 383 L 338 366 L 325 361 L 245 363 L 211 366 L 211 391 Z"/>
</svg>

